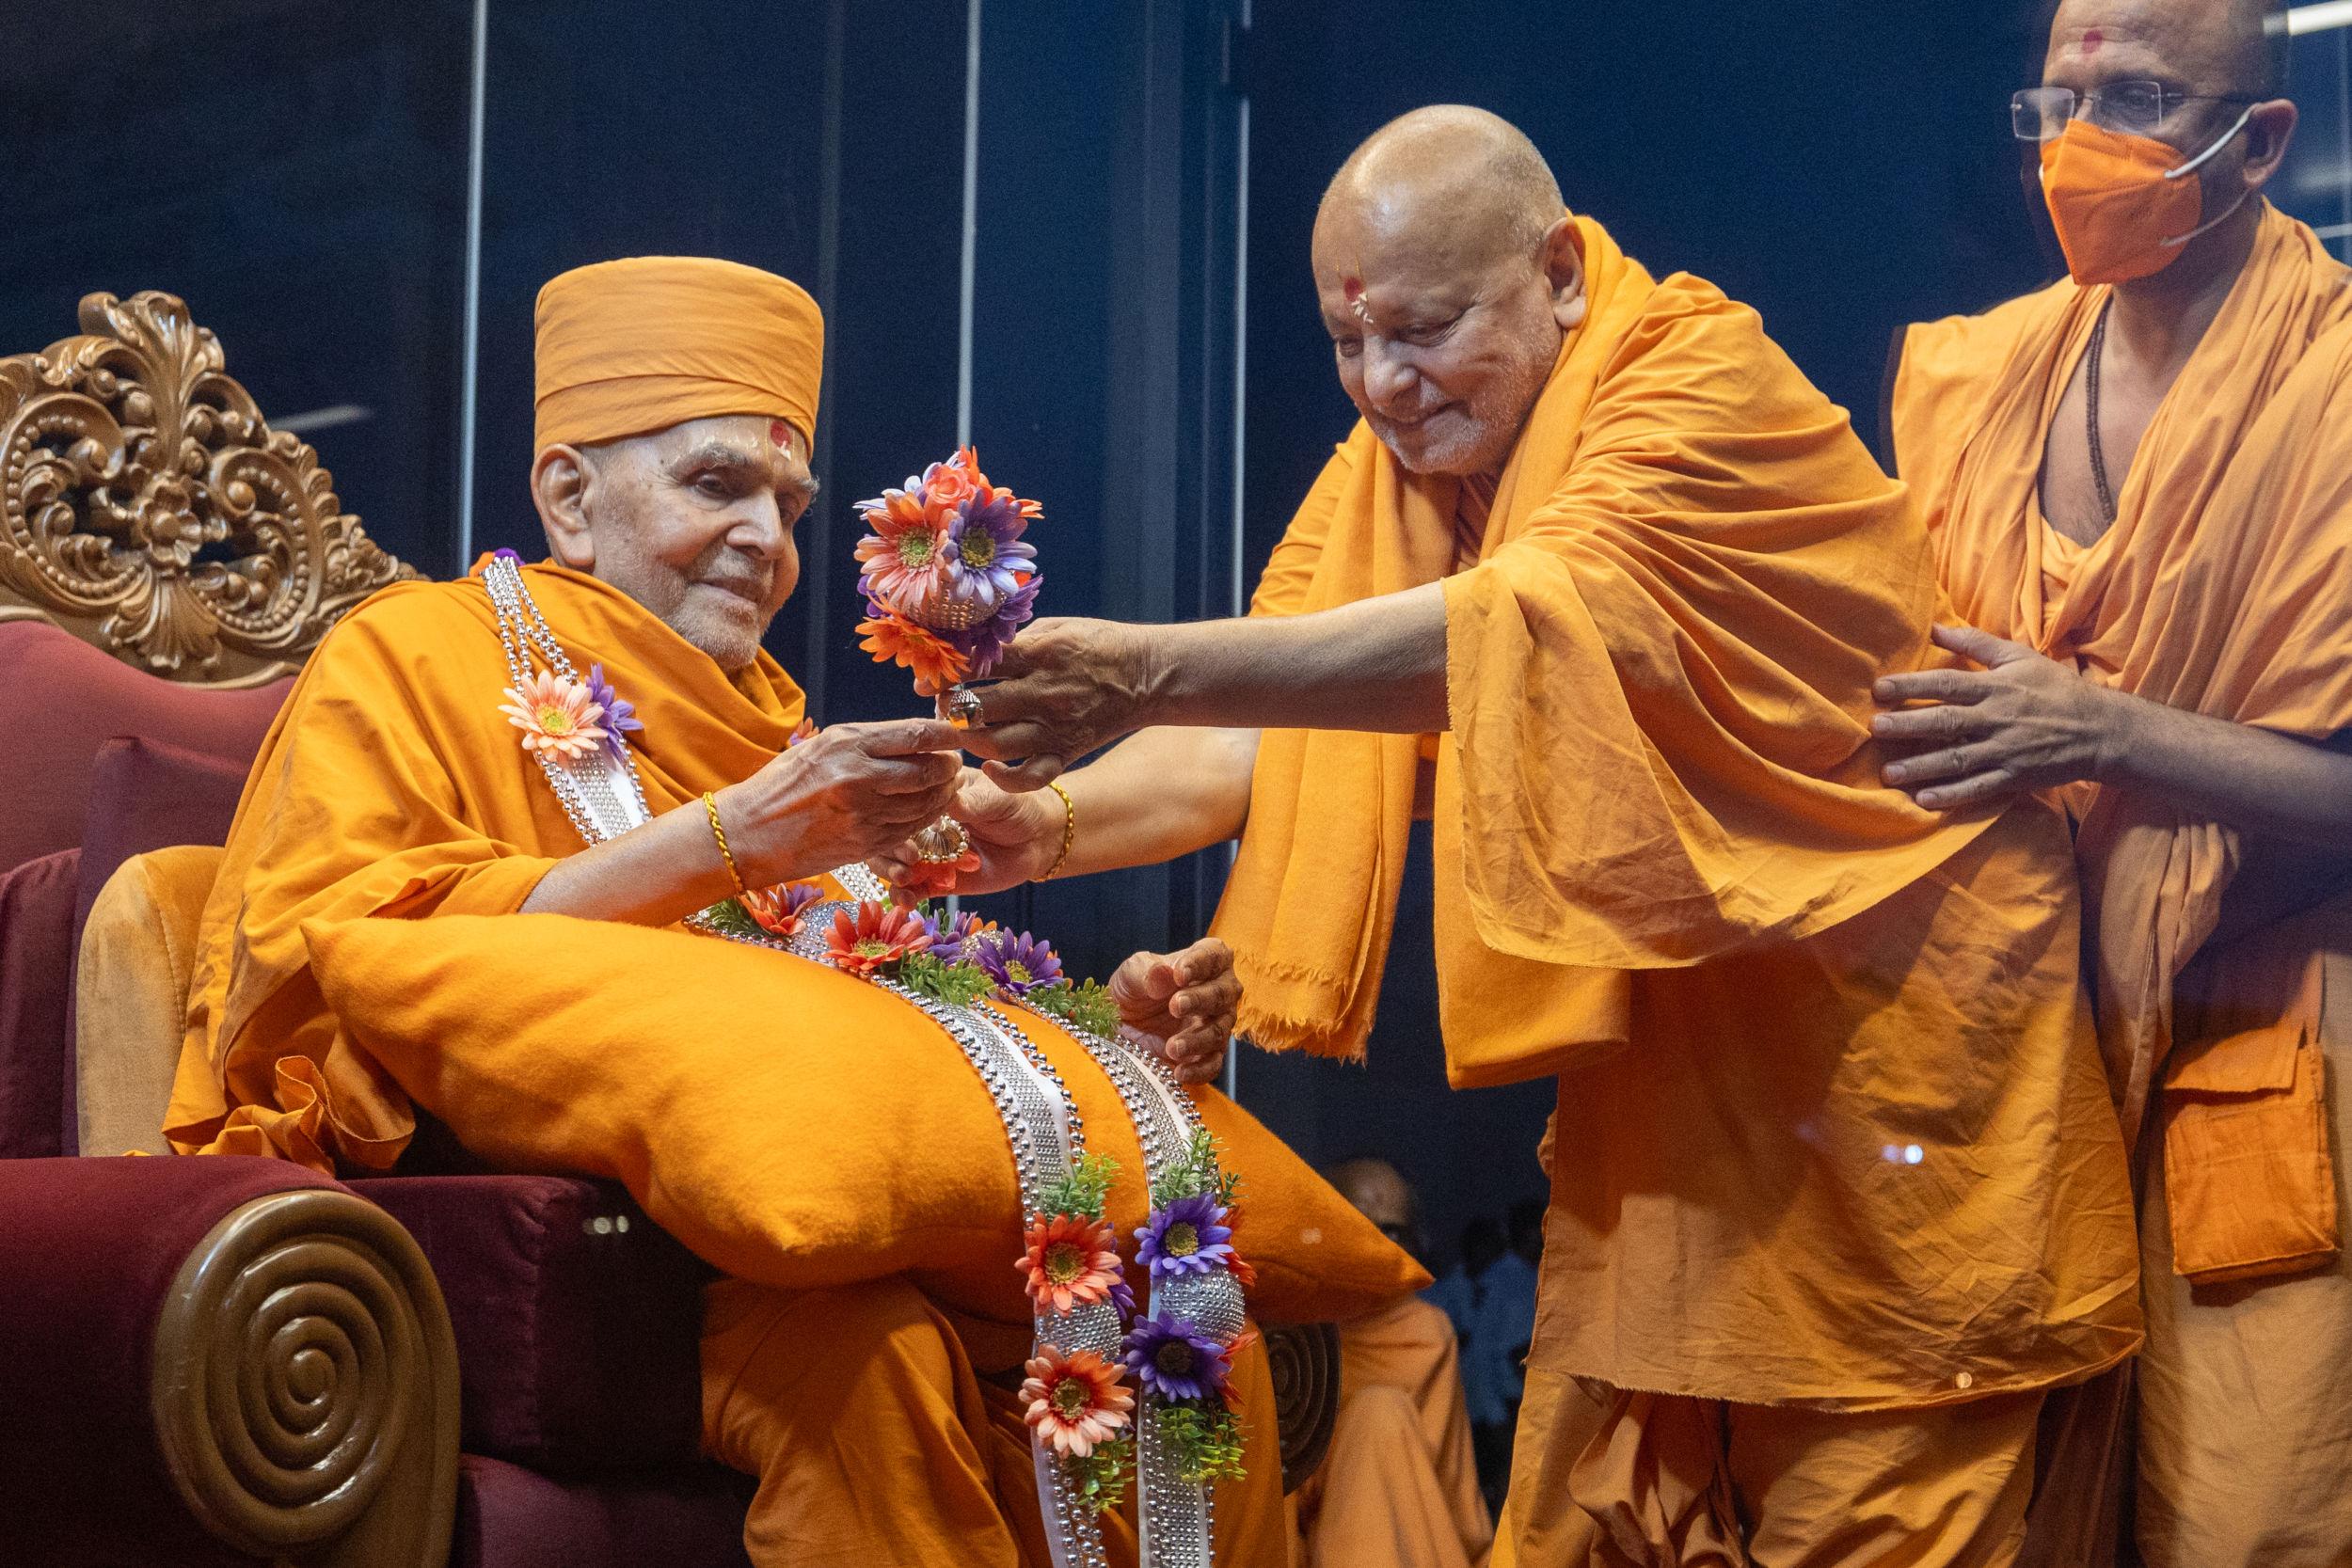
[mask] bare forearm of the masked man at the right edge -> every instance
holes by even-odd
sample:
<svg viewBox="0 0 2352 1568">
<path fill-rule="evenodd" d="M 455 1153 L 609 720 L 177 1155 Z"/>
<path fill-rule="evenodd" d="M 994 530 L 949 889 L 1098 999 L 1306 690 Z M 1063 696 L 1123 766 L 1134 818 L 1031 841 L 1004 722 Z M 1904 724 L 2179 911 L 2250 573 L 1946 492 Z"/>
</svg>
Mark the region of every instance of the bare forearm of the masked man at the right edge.
<svg viewBox="0 0 2352 1568">
<path fill-rule="evenodd" d="M 2251 724 L 2209 719 L 2145 698 L 2122 703 L 2100 783 L 2161 795 L 2190 816 L 2241 832 L 2343 846 L 2352 842 L 2352 757 Z"/>
</svg>

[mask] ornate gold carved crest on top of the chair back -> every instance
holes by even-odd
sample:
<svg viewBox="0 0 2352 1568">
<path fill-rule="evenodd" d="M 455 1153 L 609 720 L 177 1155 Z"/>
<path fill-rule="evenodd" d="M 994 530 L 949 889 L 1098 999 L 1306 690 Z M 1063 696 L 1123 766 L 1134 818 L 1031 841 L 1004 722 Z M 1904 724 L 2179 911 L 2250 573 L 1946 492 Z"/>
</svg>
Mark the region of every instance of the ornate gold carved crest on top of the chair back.
<svg viewBox="0 0 2352 1568">
<path fill-rule="evenodd" d="M 270 430 L 221 341 L 155 289 L 0 360 L 0 621 L 40 616 L 155 675 L 289 675 L 346 609 L 416 576 Z"/>
</svg>

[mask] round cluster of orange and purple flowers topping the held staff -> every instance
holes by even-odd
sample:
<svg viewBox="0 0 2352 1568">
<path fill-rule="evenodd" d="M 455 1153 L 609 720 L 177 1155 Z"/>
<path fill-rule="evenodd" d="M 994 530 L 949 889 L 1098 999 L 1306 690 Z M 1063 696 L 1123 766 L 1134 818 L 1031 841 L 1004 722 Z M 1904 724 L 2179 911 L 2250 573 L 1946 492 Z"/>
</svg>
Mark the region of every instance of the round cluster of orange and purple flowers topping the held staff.
<svg viewBox="0 0 2352 1568">
<path fill-rule="evenodd" d="M 870 529 L 858 541 L 858 646 L 913 670 L 924 696 L 988 675 L 1037 609 L 1037 548 L 1023 531 L 1040 515 L 990 484 L 971 447 L 858 501 Z"/>
</svg>

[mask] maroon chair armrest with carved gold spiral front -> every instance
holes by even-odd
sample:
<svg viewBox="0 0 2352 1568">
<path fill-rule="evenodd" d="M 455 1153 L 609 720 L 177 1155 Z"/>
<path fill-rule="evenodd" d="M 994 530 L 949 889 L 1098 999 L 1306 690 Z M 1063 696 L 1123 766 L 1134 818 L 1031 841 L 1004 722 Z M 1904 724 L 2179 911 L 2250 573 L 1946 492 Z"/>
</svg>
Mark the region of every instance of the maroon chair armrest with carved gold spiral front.
<svg viewBox="0 0 2352 1568">
<path fill-rule="evenodd" d="M 456 1345 L 374 1204 L 268 1159 L 0 1161 L 0 1561 L 447 1561 Z"/>
</svg>

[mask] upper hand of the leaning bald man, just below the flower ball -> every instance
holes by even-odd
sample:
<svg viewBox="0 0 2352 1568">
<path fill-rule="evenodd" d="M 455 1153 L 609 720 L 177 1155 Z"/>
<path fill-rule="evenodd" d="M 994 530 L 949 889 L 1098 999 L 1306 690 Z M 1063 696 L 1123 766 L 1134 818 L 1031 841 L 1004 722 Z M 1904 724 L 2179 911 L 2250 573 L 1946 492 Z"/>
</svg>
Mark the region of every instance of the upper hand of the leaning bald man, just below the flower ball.
<svg viewBox="0 0 2352 1568">
<path fill-rule="evenodd" d="M 1004 649 L 964 748 L 1007 790 L 1042 790 L 1087 752 L 1145 724 L 1150 628 L 1037 621 Z"/>
</svg>

